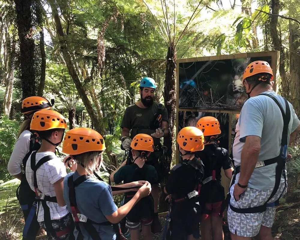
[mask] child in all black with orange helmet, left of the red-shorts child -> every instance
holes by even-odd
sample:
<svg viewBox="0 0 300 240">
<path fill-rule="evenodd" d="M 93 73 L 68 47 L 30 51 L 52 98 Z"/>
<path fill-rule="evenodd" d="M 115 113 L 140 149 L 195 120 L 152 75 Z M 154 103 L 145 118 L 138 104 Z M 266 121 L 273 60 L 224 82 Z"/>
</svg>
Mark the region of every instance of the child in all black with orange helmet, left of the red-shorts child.
<svg viewBox="0 0 300 240">
<path fill-rule="evenodd" d="M 203 141 L 203 133 L 196 127 L 185 127 L 178 133 L 182 162 L 172 168 L 164 188 L 166 194 L 171 194 L 168 240 L 199 239 L 199 191 L 204 170 L 202 161 L 195 153 L 204 149 Z"/>
</svg>

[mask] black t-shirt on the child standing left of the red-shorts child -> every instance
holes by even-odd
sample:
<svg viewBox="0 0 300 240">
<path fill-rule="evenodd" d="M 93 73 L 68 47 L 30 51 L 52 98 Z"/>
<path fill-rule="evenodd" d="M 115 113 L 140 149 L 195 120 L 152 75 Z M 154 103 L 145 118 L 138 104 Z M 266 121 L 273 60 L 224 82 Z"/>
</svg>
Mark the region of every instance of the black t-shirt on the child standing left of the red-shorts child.
<svg viewBox="0 0 300 240">
<path fill-rule="evenodd" d="M 184 197 L 187 193 L 195 190 L 198 184 L 197 178 L 201 180 L 203 177 L 204 170 L 202 161 L 198 158 L 193 158 L 189 161 L 194 161 L 199 170 L 196 170 L 193 166 L 188 164 L 187 160 L 184 160 L 172 168 L 170 176 L 168 177 L 165 186 L 166 191 L 176 196 L 176 198 Z"/>
</svg>

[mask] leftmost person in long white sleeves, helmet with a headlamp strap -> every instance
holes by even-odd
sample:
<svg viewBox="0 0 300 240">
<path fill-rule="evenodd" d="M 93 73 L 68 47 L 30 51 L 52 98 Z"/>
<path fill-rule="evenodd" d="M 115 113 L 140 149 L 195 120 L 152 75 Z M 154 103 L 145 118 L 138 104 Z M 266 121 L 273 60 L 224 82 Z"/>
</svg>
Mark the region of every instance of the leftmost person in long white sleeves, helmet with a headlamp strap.
<svg viewBox="0 0 300 240">
<path fill-rule="evenodd" d="M 17 140 L 7 165 L 7 170 L 10 175 L 21 180 L 17 190 L 17 199 L 21 205 L 25 222 L 27 222 L 30 208 L 35 202 L 35 192 L 31 190 L 26 180 L 25 173 L 22 172 L 21 166 L 23 166 L 23 169 L 25 170 L 26 162 L 32 151 L 36 151 L 40 148 L 40 142 L 36 141 L 37 137 L 30 130 L 30 123 L 35 112 L 43 109 L 49 110 L 52 108 L 52 104 L 46 98 L 39 96 L 31 96 L 22 101 L 21 113 L 25 116 L 25 120 L 20 126 Z M 40 224 L 34 215 L 33 218 L 30 219 L 28 231 L 23 234 L 23 240 L 35 239 L 40 228 Z"/>
</svg>

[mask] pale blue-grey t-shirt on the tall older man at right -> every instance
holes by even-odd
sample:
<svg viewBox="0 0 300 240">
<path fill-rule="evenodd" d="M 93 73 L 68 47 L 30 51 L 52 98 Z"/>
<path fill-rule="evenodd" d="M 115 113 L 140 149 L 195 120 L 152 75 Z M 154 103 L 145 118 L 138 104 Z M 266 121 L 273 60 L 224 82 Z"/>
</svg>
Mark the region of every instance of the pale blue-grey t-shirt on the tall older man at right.
<svg viewBox="0 0 300 240">
<path fill-rule="evenodd" d="M 285 111 L 284 99 L 274 91 L 265 91 L 273 95 Z M 288 136 L 300 125 L 292 104 L 289 103 L 291 119 L 289 122 Z M 241 165 L 241 151 L 245 138 L 250 135 L 261 138 L 261 148 L 258 161 L 275 158 L 280 154 L 280 144 L 283 129 L 283 118 L 277 104 L 268 96 L 260 95 L 248 99 L 242 107 L 238 122 L 235 127 L 235 139 L 232 145 L 232 155 L 235 166 Z M 288 137 L 289 142 L 289 137 Z M 270 189 L 275 184 L 275 164 L 254 169 L 248 186 L 254 189 Z M 238 182 L 237 175 L 235 183 Z M 283 176 L 281 182 L 284 182 Z"/>
</svg>

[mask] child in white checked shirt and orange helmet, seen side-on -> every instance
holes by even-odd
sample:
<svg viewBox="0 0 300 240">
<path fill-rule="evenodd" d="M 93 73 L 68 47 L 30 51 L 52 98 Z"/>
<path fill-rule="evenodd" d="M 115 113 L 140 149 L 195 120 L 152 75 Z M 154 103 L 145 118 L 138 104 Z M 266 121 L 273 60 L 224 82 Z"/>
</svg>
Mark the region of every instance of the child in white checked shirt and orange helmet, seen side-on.
<svg viewBox="0 0 300 240">
<path fill-rule="evenodd" d="M 64 163 L 55 155 L 55 148 L 62 142 L 66 128 L 64 116 L 53 110 L 36 112 L 30 124 L 42 144 L 26 163 L 26 179 L 36 193 L 37 201 L 32 210 L 37 208 L 38 222 L 46 230 L 49 240 L 73 239 L 74 223 L 63 198 L 63 180 L 67 172 Z"/>
</svg>

